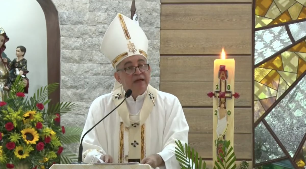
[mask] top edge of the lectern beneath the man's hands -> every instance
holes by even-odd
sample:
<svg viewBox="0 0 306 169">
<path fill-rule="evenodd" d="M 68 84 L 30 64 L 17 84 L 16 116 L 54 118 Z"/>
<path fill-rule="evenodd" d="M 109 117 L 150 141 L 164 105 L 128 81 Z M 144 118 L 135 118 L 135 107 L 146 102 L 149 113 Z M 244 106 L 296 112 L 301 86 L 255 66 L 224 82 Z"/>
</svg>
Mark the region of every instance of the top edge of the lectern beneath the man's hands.
<svg viewBox="0 0 306 169">
<path fill-rule="evenodd" d="M 53 164 L 50 169 L 153 169 L 149 164 Z"/>
</svg>

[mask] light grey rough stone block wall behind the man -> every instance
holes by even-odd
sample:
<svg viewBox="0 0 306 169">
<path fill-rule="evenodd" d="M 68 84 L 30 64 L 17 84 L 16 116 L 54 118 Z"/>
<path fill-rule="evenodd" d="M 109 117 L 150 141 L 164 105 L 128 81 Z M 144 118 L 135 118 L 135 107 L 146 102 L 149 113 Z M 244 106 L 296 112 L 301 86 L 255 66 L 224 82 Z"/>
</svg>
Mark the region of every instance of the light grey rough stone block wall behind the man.
<svg viewBox="0 0 306 169">
<path fill-rule="evenodd" d="M 130 17 L 131 1 L 52 0 L 61 30 L 61 101 L 81 106 L 63 115 L 62 125 L 84 126 L 91 102 L 111 92 L 114 70 L 99 47 L 117 13 Z M 151 85 L 159 89 L 160 1 L 136 0 L 136 13 L 149 39 Z"/>
</svg>

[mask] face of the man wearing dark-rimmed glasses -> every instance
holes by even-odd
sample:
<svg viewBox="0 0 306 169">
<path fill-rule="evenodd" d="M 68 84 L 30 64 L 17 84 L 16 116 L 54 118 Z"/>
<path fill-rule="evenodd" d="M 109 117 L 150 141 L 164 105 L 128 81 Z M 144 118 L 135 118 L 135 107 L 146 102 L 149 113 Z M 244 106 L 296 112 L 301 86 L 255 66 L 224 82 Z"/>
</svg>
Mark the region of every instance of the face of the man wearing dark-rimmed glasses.
<svg viewBox="0 0 306 169">
<path fill-rule="evenodd" d="M 151 68 L 146 64 L 144 56 L 134 55 L 123 59 L 117 66 L 115 78 L 125 91 L 131 89 L 134 97 L 142 95 L 150 82 Z"/>
</svg>

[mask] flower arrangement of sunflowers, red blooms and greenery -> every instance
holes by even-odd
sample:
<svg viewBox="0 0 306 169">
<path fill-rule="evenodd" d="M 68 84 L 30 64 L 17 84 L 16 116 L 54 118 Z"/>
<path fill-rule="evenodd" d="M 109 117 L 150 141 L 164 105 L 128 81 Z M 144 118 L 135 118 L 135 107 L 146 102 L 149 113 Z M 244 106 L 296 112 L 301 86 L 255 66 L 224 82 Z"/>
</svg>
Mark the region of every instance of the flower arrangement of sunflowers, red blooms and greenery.
<svg viewBox="0 0 306 169">
<path fill-rule="evenodd" d="M 0 168 L 25 165 L 29 169 L 47 169 L 63 158 L 61 139 L 69 138 L 65 138 L 65 127 L 58 125 L 60 114 L 77 106 L 71 102 L 48 105 L 48 96 L 58 86 L 53 83 L 41 87 L 28 99 L 22 78 L 16 78 L 8 97 L 0 102 Z"/>
</svg>

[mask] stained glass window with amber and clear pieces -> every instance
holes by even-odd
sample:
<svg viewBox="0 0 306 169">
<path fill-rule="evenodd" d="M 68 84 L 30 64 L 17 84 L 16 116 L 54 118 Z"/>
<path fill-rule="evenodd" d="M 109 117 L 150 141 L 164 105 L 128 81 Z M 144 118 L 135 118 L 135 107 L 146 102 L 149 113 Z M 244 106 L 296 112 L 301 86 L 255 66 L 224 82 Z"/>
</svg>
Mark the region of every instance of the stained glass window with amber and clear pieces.
<svg viewBox="0 0 306 169">
<path fill-rule="evenodd" d="M 306 0 L 254 0 L 254 163 L 306 165 Z"/>
</svg>

